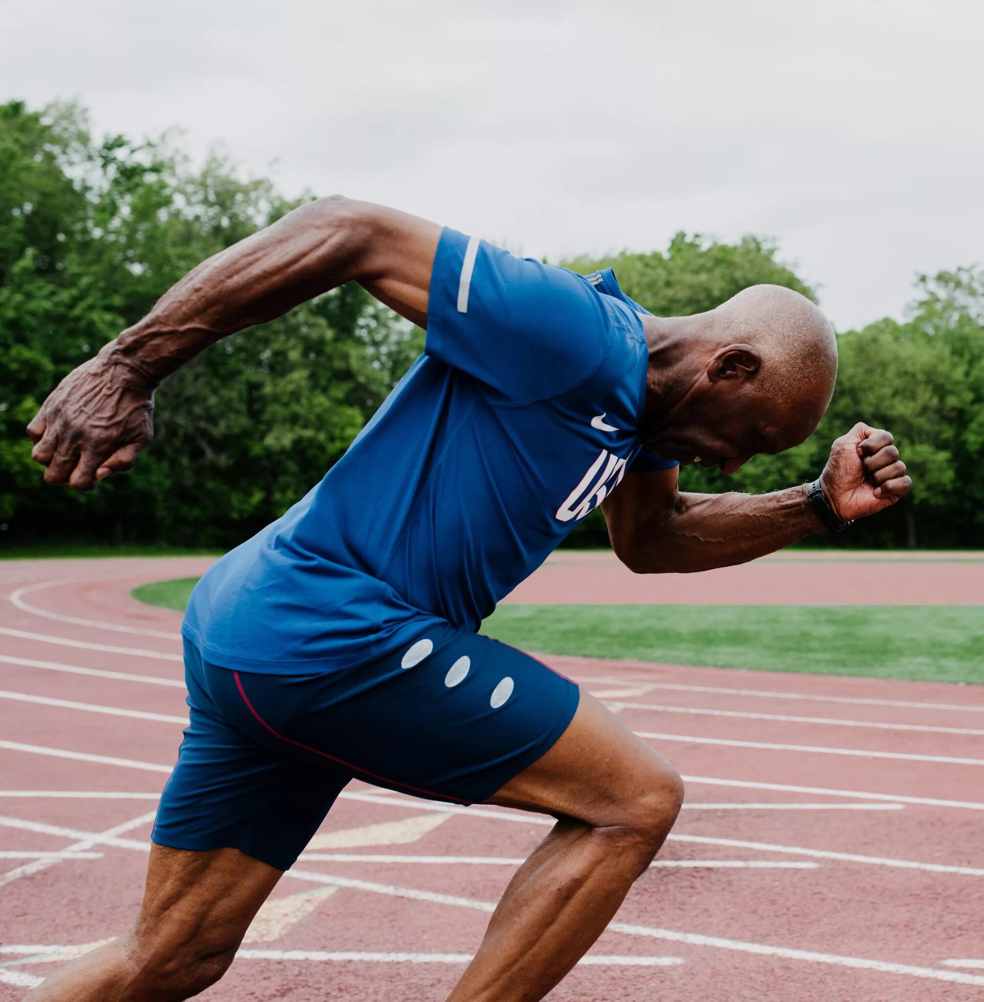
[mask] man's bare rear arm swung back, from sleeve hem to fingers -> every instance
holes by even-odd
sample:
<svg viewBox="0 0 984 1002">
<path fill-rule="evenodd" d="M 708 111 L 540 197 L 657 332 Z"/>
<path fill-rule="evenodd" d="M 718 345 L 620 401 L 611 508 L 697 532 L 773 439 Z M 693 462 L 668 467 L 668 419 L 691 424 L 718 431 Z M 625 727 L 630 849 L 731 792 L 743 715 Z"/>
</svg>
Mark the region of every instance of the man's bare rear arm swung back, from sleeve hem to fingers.
<svg viewBox="0 0 984 1002">
<path fill-rule="evenodd" d="M 147 316 L 69 373 L 27 431 L 50 484 L 87 491 L 129 469 L 152 434 L 153 390 L 227 335 L 350 281 L 420 326 L 441 227 L 322 198 L 202 262 Z"/>
</svg>

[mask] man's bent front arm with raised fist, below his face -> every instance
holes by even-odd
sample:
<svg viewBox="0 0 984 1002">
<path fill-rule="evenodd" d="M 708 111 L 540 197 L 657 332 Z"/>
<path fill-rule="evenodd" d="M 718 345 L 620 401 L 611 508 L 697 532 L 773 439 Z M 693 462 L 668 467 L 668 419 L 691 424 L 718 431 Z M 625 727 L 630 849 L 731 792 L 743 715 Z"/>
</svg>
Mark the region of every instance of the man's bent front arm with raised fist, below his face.
<svg viewBox="0 0 984 1002">
<path fill-rule="evenodd" d="M 677 490 L 677 470 L 628 474 L 602 504 L 612 548 L 636 573 L 746 563 L 824 531 L 806 485 L 773 494 L 690 494 Z M 834 443 L 820 479 L 842 522 L 890 507 L 912 486 L 892 435 L 865 424 Z"/>
</svg>

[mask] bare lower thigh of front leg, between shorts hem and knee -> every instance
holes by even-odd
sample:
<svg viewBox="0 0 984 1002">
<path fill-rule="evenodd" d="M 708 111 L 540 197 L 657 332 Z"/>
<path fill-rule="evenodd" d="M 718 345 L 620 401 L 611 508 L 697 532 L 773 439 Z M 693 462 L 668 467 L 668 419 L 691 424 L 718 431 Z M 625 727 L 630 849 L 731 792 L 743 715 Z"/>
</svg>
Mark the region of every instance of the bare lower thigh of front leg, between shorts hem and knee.
<svg viewBox="0 0 984 1002">
<path fill-rule="evenodd" d="M 574 718 L 552 747 L 488 803 L 611 826 L 635 823 L 640 804 L 681 797 L 673 766 L 582 692 Z"/>
</svg>

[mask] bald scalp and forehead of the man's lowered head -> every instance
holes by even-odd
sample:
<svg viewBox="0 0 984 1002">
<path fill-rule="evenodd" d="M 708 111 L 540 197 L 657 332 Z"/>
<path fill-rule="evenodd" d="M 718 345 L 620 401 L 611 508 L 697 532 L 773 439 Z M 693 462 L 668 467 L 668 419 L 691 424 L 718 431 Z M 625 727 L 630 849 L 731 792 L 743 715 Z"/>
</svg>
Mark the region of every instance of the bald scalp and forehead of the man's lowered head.
<svg viewBox="0 0 984 1002">
<path fill-rule="evenodd" d="M 706 317 L 718 344 L 759 353 L 764 395 L 827 409 L 837 379 L 837 338 L 816 304 L 783 286 L 752 286 Z"/>
</svg>

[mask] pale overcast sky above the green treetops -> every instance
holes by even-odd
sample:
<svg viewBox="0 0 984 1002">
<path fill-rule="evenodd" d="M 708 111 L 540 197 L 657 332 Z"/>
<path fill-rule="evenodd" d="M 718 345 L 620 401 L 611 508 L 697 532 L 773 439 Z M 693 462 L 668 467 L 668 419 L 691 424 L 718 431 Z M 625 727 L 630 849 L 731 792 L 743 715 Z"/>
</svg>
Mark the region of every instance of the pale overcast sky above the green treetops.
<svg viewBox="0 0 984 1002">
<path fill-rule="evenodd" d="M 981 0 L 0 0 L 0 100 L 556 260 L 775 236 L 843 328 L 984 263 Z"/>
</svg>

